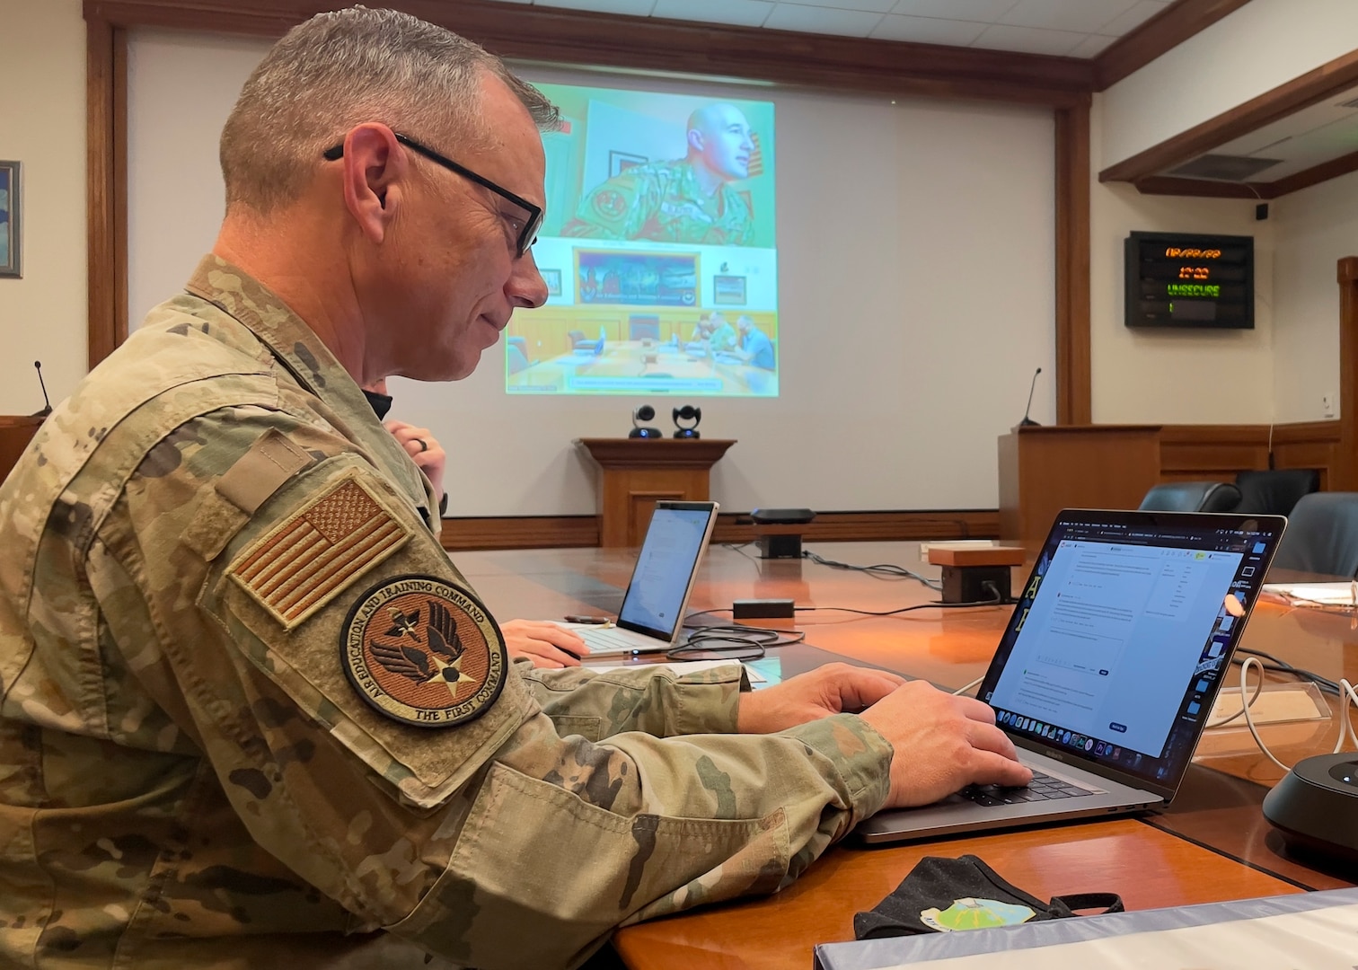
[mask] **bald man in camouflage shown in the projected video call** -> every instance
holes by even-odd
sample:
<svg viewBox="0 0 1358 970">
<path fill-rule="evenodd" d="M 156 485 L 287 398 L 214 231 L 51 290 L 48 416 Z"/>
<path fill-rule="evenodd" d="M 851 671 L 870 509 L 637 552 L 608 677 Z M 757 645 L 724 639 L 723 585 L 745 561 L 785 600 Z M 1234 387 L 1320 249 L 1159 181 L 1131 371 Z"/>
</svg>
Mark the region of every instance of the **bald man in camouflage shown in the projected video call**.
<svg viewBox="0 0 1358 970">
<path fill-rule="evenodd" d="M 565 236 L 748 246 L 754 213 L 731 187 L 750 177 L 755 143 L 735 105 L 708 105 L 689 117 L 689 155 L 633 166 L 580 201 Z"/>
</svg>

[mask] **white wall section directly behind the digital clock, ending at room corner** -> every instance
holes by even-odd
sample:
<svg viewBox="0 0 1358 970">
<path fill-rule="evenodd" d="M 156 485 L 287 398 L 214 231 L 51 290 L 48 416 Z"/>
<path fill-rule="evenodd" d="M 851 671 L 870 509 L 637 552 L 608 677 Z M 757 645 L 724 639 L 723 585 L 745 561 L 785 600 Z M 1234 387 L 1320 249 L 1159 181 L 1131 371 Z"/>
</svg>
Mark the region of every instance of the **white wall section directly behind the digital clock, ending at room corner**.
<svg viewBox="0 0 1358 970">
<path fill-rule="evenodd" d="M 1130 185 L 1100 183 L 1097 173 L 1107 164 L 1100 152 L 1100 134 L 1107 125 L 1104 109 L 1104 98 L 1095 95 L 1089 206 L 1093 420 L 1100 424 L 1267 424 L 1275 420 L 1272 221 L 1255 221 L 1255 204 L 1245 200 L 1142 196 Z M 1123 240 L 1133 230 L 1252 235 L 1255 329 L 1165 331 L 1127 327 Z"/>
</svg>

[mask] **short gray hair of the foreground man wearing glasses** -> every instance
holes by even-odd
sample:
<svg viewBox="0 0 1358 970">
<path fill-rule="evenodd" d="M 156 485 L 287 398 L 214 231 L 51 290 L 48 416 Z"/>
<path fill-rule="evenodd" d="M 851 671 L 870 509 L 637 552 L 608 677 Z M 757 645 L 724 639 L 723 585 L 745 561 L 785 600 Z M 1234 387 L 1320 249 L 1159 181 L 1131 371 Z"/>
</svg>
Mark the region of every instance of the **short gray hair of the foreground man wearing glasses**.
<svg viewBox="0 0 1358 970">
<path fill-rule="evenodd" d="M 289 30 L 251 72 L 221 129 L 227 208 L 265 213 L 301 196 L 322 154 L 364 121 L 454 151 L 489 132 L 481 83 L 498 77 L 540 130 L 557 109 L 494 54 L 392 10 L 318 14 Z"/>
</svg>

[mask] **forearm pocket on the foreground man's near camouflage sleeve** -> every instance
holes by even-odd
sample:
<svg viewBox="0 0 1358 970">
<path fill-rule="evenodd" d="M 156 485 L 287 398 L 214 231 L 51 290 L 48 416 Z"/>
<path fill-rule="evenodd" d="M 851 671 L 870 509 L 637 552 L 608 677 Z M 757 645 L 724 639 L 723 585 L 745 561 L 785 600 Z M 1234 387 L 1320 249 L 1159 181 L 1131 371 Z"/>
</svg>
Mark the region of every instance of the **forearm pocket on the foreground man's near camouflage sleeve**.
<svg viewBox="0 0 1358 970">
<path fill-rule="evenodd" d="M 387 929 L 471 963 L 559 966 L 637 913 L 771 891 L 788 864 L 782 810 L 763 819 L 625 816 L 497 764 L 447 871 Z"/>
</svg>

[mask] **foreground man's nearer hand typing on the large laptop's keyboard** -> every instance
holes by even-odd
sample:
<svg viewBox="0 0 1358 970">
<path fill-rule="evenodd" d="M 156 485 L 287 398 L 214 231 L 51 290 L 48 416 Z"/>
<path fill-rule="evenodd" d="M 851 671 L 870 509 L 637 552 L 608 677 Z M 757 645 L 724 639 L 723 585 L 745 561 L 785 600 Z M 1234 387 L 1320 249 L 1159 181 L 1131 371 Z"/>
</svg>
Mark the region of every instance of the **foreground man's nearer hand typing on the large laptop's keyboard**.
<svg viewBox="0 0 1358 970">
<path fill-rule="evenodd" d="M 1027 785 L 1013 742 L 995 712 L 923 681 L 898 687 L 860 715 L 891 742 L 888 807 L 926 806 L 970 784 Z"/>
</svg>

